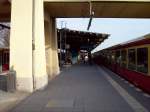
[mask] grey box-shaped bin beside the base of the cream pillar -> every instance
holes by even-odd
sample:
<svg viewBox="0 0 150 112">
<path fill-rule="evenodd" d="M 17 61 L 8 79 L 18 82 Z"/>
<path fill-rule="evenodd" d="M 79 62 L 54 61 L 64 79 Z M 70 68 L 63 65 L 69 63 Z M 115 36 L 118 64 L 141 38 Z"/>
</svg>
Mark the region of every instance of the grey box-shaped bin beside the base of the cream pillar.
<svg viewBox="0 0 150 112">
<path fill-rule="evenodd" d="M 0 89 L 7 92 L 16 90 L 16 72 L 8 71 L 0 74 Z"/>
</svg>

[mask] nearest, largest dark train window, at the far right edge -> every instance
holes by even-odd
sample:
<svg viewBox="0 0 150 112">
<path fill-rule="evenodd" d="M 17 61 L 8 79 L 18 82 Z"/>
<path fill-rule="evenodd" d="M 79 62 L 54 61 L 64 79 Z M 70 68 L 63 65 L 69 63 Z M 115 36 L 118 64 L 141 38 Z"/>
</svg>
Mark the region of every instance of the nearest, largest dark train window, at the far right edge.
<svg viewBox="0 0 150 112">
<path fill-rule="evenodd" d="M 137 49 L 137 71 L 148 73 L 148 48 Z"/>
</svg>

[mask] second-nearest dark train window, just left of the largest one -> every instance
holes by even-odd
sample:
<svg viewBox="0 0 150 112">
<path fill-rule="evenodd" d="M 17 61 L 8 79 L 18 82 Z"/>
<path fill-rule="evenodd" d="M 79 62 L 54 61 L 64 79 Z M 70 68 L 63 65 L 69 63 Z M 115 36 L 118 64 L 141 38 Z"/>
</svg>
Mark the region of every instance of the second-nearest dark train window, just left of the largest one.
<svg viewBox="0 0 150 112">
<path fill-rule="evenodd" d="M 136 50 L 135 49 L 129 49 L 128 50 L 128 68 L 131 70 L 136 70 L 136 58 L 135 58 Z"/>
</svg>

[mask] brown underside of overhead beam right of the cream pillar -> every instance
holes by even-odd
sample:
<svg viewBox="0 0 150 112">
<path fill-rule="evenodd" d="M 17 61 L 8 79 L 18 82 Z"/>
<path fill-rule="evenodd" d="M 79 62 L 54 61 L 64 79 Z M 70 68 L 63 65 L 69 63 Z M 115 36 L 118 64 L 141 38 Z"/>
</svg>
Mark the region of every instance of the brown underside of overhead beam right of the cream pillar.
<svg viewBox="0 0 150 112">
<path fill-rule="evenodd" d="M 149 0 L 45 0 L 45 11 L 56 18 L 150 18 Z"/>
</svg>

